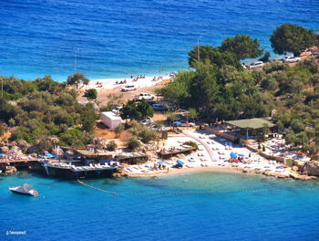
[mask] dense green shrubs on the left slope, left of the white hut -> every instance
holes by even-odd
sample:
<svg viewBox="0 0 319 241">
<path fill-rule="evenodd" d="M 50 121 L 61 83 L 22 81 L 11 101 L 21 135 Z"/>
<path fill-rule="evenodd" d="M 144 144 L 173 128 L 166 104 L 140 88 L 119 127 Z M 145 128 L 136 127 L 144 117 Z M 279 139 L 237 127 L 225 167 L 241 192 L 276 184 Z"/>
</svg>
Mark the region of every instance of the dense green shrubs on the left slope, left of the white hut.
<svg viewBox="0 0 319 241">
<path fill-rule="evenodd" d="M 78 104 L 77 91 L 50 76 L 35 81 L 4 78 L 4 96 L 0 121 L 9 126 L 11 141 L 31 144 L 28 152 L 50 151 L 55 143 L 84 147 L 92 137 L 92 104 Z"/>
</svg>

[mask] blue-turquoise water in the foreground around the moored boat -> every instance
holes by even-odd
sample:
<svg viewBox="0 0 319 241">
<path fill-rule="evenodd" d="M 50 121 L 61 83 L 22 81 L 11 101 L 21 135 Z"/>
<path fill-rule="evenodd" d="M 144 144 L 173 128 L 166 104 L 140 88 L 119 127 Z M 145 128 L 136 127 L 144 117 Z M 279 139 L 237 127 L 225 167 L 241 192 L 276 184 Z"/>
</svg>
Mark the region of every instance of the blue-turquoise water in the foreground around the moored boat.
<svg viewBox="0 0 319 241">
<path fill-rule="evenodd" d="M 2 178 L 0 240 L 319 239 L 318 182 L 231 173 L 86 182 L 117 194 L 40 176 Z M 7 190 L 20 183 L 44 198 Z"/>
</svg>

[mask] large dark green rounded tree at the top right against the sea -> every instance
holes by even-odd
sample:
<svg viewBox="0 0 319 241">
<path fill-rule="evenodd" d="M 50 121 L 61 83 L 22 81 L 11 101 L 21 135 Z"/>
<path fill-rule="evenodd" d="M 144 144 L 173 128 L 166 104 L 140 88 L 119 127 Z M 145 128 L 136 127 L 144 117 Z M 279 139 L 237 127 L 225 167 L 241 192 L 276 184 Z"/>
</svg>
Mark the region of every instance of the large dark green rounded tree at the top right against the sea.
<svg viewBox="0 0 319 241">
<path fill-rule="evenodd" d="M 270 40 L 275 53 L 283 55 L 293 52 L 295 56 L 299 56 L 305 48 L 313 47 L 318 42 L 313 30 L 292 24 L 278 26 Z"/>
</svg>

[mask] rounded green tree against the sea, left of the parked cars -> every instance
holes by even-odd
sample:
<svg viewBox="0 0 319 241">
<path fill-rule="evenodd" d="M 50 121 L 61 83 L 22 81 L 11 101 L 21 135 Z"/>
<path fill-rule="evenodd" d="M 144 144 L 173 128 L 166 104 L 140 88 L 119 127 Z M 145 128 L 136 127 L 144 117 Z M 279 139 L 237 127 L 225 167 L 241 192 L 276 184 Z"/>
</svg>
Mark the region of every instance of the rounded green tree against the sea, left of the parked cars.
<svg viewBox="0 0 319 241">
<path fill-rule="evenodd" d="M 257 58 L 262 55 L 262 49 L 259 48 L 258 39 L 252 39 L 247 35 L 236 35 L 235 37 L 226 37 L 221 43 L 222 52 L 230 52 L 237 59 Z"/>
</svg>

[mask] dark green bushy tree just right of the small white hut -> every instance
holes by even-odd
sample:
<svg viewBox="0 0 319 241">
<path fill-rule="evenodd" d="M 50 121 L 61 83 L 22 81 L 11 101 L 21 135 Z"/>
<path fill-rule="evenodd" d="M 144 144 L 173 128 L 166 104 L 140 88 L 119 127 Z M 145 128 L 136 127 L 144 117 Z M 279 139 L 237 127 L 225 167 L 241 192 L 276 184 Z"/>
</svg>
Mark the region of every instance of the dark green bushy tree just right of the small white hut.
<svg viewBox="0 0 319 241">
<path fill-rule="evenodd" d="M 120 116 L 123 119 L 141 120 L 145 117 L 153 117 L 154 110 L 146 100 L 136 102 L 129 100 L 121 110 Z"/>
</svg>

